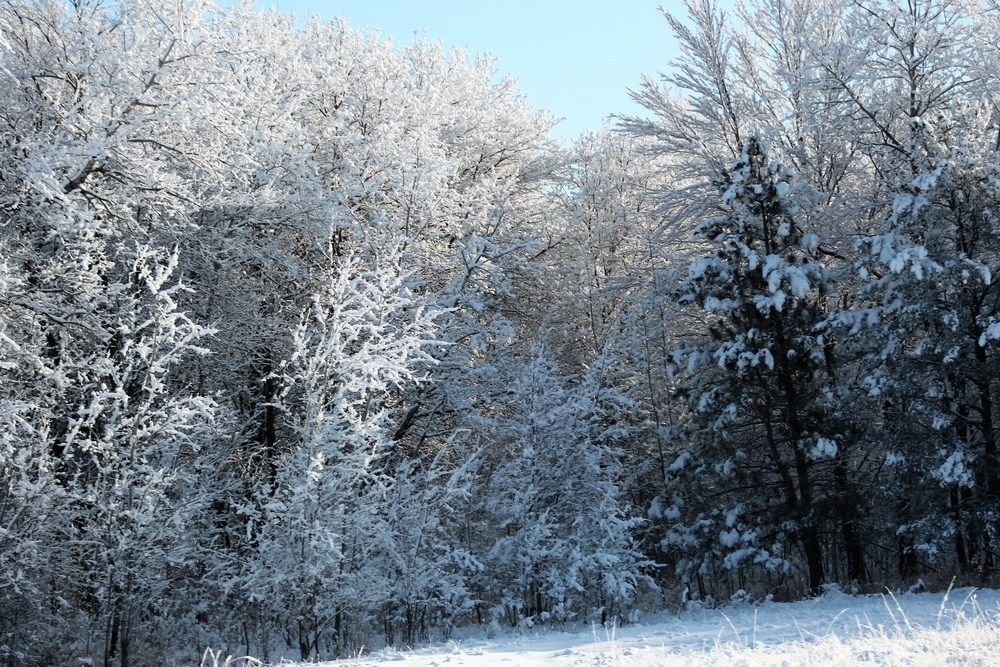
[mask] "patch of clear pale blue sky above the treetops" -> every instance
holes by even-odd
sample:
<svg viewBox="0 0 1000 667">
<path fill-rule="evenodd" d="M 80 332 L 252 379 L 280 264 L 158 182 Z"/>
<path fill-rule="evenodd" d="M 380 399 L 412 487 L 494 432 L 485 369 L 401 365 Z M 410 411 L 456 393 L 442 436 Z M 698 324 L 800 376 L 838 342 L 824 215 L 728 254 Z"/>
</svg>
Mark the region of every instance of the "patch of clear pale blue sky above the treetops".
<svg viewBox="0 0 1000 667">
<path fill-rule="evenodd" d="M 340 16 L 394 40 L 414 33 L 445 46 L 491 53 L 530 102 L 563 117 L 556 134 L 599 130 L 611 113 L 639 113 L 628 97 L 643 72 L 677 57 L 657 9 L 683 14 L 679 0 L 258 0 L 300 16 Z"/>
</svg>

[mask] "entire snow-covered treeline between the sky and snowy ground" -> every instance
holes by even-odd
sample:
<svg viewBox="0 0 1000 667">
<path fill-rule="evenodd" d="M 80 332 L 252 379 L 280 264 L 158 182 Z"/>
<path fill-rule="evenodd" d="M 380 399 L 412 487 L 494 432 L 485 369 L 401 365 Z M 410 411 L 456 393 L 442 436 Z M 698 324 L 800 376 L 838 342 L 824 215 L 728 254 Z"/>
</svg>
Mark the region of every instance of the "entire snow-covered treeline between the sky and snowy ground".
<svg viewBox="0 0 1000 667">
<path fill-rule="evenodd" d="M 994 582 L 1000 8 L 688 10 L 565 148 L 437 44 L 0 0 L 0 661 Z"/>
</svg>

